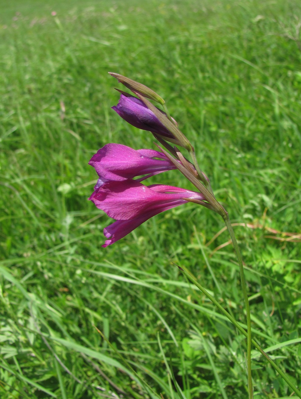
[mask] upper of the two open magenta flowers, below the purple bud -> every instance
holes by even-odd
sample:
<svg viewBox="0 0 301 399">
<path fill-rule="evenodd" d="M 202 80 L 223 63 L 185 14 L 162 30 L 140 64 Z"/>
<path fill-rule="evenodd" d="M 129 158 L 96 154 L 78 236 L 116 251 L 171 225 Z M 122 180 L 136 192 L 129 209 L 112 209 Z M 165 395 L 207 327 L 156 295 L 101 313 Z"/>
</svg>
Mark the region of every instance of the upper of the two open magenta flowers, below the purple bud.
<svg viewBox="0 0 301 399">
<path fill-rule="evenodd" d="M 122 144 L 112 143 L 98 150 L 90 159 L 89 165 L 95 168 L 99 176 L 95 190 L 108 180 L 122 181 L 146 174 L 147 176 L 139 179 L 141 182 L 150 176 L 176 168 L 162 152 L 133 150 Z"/>
</svg>

